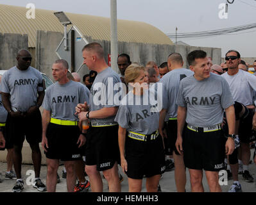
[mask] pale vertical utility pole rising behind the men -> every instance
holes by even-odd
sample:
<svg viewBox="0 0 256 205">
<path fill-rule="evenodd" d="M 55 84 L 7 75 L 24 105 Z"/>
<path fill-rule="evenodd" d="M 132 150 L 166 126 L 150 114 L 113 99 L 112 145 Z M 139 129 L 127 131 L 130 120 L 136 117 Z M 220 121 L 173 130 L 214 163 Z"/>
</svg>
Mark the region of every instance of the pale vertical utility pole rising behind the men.
<svg viewBox="0 0 256 205">
<path fill-rule="evenodd" d="M 110 37 L 111 37 L 111 67 L 115 72 L 119 72 L 117 67 L 118 47 L 117 47 L 117 0 L 110 0 Z"/>
</svg>

